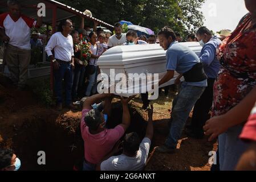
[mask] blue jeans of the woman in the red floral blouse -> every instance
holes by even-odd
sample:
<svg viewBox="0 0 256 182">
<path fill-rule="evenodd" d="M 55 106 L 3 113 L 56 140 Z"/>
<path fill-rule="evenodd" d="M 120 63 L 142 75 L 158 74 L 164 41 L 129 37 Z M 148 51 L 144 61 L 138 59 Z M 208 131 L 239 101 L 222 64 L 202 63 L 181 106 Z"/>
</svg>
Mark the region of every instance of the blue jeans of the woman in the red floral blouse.
<svg viewBox="0 0 256 182">
<path fill-rule="evenodd" d="M 233 171 L 238 160 L 245 152 L 248 143 L 239 139 L 243 129 L 242 125 L 230 127 L 224 134 L 218 137 L 218 151 L 220 154 L 220 170 Z"/>
</svg>

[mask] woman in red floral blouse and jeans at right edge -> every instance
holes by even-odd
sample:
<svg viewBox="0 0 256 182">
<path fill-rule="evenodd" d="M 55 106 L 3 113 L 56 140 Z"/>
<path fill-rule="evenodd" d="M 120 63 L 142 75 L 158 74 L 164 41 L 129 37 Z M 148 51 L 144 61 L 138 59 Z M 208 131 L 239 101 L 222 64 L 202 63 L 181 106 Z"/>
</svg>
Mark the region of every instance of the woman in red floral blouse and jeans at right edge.
<svg viewBox="0 0 256 182">
<path fill-rule="evenodd" d="M 256 101 L 256 1 L 245 4 L 250 13 L 218 49 L 222 68 L 214 84 L 214 118 L 204 126 L 209 140 L 218 137 L 221 170 L 233 170 L 245 151 L 238 137 Z"/>
</svg>

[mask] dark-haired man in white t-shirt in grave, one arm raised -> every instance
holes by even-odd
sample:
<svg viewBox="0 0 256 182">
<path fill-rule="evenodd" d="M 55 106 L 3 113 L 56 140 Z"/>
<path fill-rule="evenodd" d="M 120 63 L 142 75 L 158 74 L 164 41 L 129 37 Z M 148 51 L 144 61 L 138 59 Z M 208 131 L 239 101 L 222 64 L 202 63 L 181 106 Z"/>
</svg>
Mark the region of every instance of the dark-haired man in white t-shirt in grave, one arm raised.
<svg viewBox="0 0 256 182">
<path fill-rule="evenodd" d="M 123 154 L 113 156 L 120 151 L 117 144 L 96 169 L 101 171 L 142 171 L 148 160 L 151 140 L 153 138 L 153 106 L 148 107 L 148 126 L 145 138 L 140 140 L 137 133 L 127 134 L 123 141 Z M 110 157 L 110 158 L 109 158 Z"/>
</svg>

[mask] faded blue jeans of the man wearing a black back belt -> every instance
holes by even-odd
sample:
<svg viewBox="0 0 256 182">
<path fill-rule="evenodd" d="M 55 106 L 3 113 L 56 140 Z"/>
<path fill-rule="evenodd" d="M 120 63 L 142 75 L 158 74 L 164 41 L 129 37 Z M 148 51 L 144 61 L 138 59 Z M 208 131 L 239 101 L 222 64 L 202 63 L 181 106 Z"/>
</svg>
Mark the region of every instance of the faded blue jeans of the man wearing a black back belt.
<svg viewBox="0 0 256 182">
<path fill-rule="evenodd" d="M 182 130 L 189 117 L 189 113 L 196 101 L 201 97 L 205 87 L 182 85 L 180 92 L 174 98 L 172 104 L 172 118 L 170 119 L 170 131 L 165 145 L 169 148 L 176 148 Z"/>
</svg>

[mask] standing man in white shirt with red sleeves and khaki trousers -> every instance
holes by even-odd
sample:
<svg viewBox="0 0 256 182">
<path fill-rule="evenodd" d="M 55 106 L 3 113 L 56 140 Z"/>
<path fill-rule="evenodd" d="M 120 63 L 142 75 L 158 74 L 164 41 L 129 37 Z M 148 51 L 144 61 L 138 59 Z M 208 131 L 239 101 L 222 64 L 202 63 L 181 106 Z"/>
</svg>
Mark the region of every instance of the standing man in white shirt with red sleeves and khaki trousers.
<svg viewBox="0 0 256 182">
<path fill-rule="evenodd" d="M 11 80 L 22 90 L 27 81 L 31 59 L 31 28 L 42 26 L 42 17 L 35 21 L 21 14 L 21 6 L 15 0 L 7 1 L 7 6 L 9 12 L 0 14 L 0 38 L 8 43 L 5 59 Z"/>
</svg>

